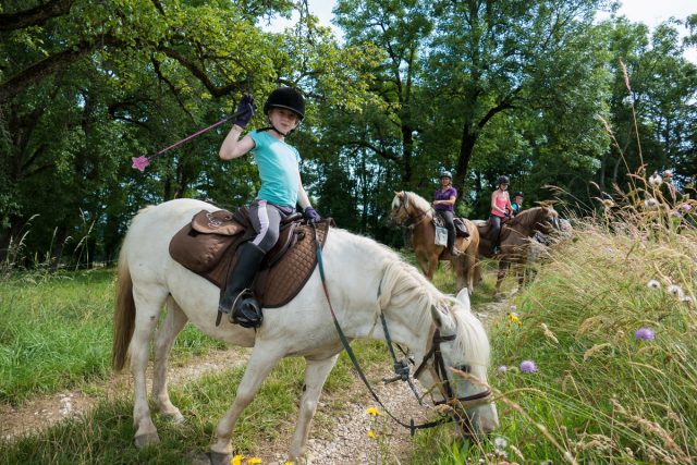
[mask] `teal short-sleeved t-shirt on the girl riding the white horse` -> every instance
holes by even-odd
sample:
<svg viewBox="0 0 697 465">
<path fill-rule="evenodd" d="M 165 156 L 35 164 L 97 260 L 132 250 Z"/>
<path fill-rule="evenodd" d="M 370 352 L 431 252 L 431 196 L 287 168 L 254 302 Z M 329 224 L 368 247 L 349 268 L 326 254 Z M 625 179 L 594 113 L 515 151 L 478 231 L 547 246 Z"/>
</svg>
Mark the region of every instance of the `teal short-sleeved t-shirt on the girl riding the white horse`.
<svg viewBox="0 0 697 465">
<path fill-rule="evenodd" d="M 255 144 L 252 155 L 261 178 L 257 198 L 295 208 L 301 184 L 301 155 L 295 147 L 277 139 L 267 131 L 253 131 L 249 137 Z"/>
</svg>

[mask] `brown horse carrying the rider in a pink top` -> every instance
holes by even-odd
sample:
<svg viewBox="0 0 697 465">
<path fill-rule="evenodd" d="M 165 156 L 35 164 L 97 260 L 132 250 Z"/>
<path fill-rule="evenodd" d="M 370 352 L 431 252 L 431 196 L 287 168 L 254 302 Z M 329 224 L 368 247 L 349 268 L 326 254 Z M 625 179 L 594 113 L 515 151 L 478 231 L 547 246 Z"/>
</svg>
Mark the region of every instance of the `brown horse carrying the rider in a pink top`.
<svg viewBox="0 0 697 465">
<path fill-rule="evenodd" d="M 536 232 L 550 235 L 560 230 L 559 213 L 551 206 L 535 207 L 521 211 L 515 218 L 501 225 L 500 252 L 491 254 L 490 225 L 487 221 L 476 221 L 479 230 L 479 256 L 499 260 L 499 272 L 493 295 L 498 296 L 501 282 L 511 264 L 524 267 L 533 247 Z M 518 272 L 518 289 L 523 286 L 524 273 Z"/>
</svg>

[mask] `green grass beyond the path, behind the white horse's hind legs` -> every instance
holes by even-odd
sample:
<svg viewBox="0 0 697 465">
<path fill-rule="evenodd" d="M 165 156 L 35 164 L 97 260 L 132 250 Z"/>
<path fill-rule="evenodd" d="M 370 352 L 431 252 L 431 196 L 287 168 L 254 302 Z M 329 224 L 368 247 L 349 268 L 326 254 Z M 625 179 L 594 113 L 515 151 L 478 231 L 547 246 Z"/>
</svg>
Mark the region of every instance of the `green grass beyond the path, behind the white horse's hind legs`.
<svg viewBox="0 0 697 465">
<path fill-rule="evenodd" d="M 0 282 L 0 402 L 100 381 L 111 374 L 114 272 L 21 273 Z M 174 357 L 222 344 L 187 327 Z"/>
</svg>

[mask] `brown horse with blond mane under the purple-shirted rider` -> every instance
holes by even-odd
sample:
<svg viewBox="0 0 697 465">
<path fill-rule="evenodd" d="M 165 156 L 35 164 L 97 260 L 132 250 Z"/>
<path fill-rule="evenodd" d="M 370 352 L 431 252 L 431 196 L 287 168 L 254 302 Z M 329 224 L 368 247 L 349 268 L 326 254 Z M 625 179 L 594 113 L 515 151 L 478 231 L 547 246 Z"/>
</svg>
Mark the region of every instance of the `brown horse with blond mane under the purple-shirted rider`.
<svg viewBox="0 0 697 465">
<path fill-rule="evenodd" d="M 467 287 L 469 294 L 474 285 L 479 281 L 479 232 L 475 224 L 463 219 L 469 237 L 456 237 L 455 248 L 460 255 L 452 257 L 448 247 L 436 245 L 436 227 L 433 224 L 433 208 L 431 205 L 413 192 L 398 192 L 392 200 L 391 221 L 413 230 L 413 243 L 416 260 L 421 271 L 429 281 L 433 280 L 433 273 L 439 260 L 450 260 L 452 269 L 457 277 L 457 289 Z"/>
</svg>

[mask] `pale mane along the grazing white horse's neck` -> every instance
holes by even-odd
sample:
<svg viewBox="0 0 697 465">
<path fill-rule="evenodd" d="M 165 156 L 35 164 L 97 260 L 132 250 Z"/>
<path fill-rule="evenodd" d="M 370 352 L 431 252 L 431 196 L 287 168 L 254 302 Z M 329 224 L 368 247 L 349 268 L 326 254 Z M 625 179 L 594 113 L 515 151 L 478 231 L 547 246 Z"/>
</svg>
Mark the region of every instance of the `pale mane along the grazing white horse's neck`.
<svg viewBox="0 0 697 465">
<path fill-rule="evenodd" d="M 420 197 L 419 197 L 420 198 Z M 389 303 L 404 306 L 417 303 L 419 314 L 415 323 L 423 328 L 432 325 L 431 306 L 449 314 L 457 327 L 454 341 L 458 351 L 466 354 L 472 365 L 487 366 L 489 363 L 489 341 L 481 322 L 475 315 L 453 296 L 440 292 L 414 266 L 399 254 L 371 238 L 351 234 L 370 248 L 370 254 L 381 261 L 382 281 L 380 284 L 380 308 Z"/>
</svg>

